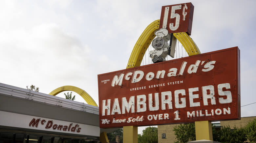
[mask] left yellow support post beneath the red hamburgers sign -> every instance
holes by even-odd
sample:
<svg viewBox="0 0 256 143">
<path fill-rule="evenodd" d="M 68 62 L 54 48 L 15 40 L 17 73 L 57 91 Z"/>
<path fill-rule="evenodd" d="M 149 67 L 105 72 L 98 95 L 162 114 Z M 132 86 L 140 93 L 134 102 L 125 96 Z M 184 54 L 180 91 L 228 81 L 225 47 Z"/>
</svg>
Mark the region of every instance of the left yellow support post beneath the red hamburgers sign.
<svg viewBox="0 0 256 143">
<path fill-rule="evenodd" d="M 123 127 L 123 143 L 138 143 L 138 127 Z"/>
</svg>

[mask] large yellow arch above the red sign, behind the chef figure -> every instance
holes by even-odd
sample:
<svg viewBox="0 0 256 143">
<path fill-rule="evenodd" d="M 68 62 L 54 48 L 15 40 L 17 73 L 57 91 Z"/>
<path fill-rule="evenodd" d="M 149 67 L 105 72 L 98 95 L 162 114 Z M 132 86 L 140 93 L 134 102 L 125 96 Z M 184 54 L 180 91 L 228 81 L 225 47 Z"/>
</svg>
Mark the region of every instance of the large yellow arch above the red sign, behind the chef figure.
<svg viewBox="0 0 256 143">
<path fill-rule="evenodd" d="M 126 69 L 140 66 L 142 58 L 145 55 L 145 52 L 150 45 L 151 40 L 153 40 L 156 36 L 154 33 L 157 29 L 159 29 L 159 22 L 160 20 L 156 20 L 149 24 L 140 35 L 133 48 Z M 173 35 L 181 42 L 188 56 L 201 54 L 196 43 L 187 35 L 186 32 L 174 33 Z"/>
</svg>

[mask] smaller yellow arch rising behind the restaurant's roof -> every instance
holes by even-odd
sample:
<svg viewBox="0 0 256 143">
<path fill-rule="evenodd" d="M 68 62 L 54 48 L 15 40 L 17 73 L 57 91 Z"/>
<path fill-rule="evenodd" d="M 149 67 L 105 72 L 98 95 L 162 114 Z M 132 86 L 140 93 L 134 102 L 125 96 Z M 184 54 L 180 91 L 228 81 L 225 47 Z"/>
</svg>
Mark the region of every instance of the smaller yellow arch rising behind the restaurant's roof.
<svg viewBox="0 0 256 143">
<path fill-rule="evenodd" d="M 79 94 L 86 101 L 87 104 L 94 105 L 94 106 L 98 107 L 98 105 L 93 100 L 93 98 L 86 91 L 84 91 L 83 89 L 78 88 L 78 87 L 74 87 L 74 86 L 58 87 L 58 88 L 54 89 L 52 92 L 50 92 L 49 94 L 55 96 L 63 91 L 74 91 L 77 94 Z"/>
</svg>

